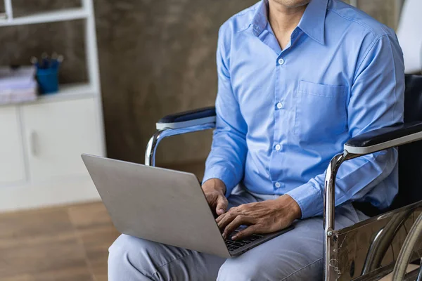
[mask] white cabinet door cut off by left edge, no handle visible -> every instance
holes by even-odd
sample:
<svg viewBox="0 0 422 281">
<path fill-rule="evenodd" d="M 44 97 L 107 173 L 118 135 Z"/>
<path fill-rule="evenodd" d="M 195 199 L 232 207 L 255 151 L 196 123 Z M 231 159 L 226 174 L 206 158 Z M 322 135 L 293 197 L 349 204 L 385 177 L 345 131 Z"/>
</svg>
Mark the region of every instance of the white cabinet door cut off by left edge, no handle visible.
<svg viewBox="0 0 422 281">
<path fill-rule="evenodd" d="M 0 107 L 0 185 L 25 180 L 18 107 Z"/>
</svg>

